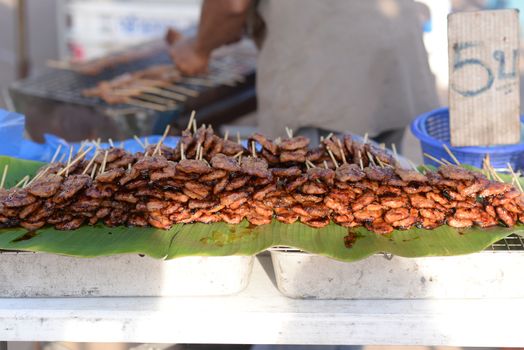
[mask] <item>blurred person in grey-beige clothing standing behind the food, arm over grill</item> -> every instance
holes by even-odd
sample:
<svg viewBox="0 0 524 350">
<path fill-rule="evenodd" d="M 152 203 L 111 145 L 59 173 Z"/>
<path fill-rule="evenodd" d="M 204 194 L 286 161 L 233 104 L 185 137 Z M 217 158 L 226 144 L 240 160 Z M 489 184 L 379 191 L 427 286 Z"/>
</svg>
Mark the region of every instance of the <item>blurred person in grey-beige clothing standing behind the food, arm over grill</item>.
<svg viewBox="0 0 524 350">
<path fill-rule="evenodd" d="M 198 33 L 171 55 L 201 74 L 246 32 L 260 49 L 257 121 L 270 137 L 289 126 L 400 146 L 410 120 L 439 105 L 413 0 L 204 0 Z"/>
</svg>

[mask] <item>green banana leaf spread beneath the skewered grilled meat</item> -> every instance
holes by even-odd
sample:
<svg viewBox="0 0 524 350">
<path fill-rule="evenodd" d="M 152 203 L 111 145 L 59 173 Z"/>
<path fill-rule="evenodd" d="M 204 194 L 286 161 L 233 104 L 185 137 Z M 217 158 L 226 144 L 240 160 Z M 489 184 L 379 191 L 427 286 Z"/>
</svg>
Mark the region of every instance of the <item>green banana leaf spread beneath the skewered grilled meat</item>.
<svg viewBox="0 0 524 350">
<path fill-rule="evenodd" d="M 7 187 L 25 175 L 34 175 L 42 163 L 0 157 L 0 171 L 9 164 Z M 509 179 L 511 181 L 511 179 Z M 43 228 L 0 230 L 0 249 L 48 252 L 76 257 L 139 253 L 158 259 L 183 256 L 253 255 L 276 246 L 297 248 L 342 261 L 356 261 L 387 252 L 404 257 L 447 256 L 481 251 L 511 233 L 524 234 L 524 226 L 490 229 L 410 229 L 379 235 L 365 228 L 336 224 L 315 229 L 301 223 L 253 226 L 226 223 L 175 225 L 155 228 L 84 226 L 74 231 Z"/>
</svg>

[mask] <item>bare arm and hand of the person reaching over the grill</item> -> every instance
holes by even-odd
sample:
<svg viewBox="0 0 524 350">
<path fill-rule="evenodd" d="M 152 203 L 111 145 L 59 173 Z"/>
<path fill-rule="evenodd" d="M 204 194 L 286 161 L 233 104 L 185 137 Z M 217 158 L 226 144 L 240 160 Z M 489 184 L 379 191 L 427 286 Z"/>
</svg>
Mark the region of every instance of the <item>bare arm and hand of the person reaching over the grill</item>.
<svg viewBox="0 0 524 350">
<path fill-rule="evenodd" d="M 204 0 L 197 36 L 171 49 L 177 68 L 187 75 L 204 73 L 214 49 L 242 38 L 251 1 Z"/>
</svg>

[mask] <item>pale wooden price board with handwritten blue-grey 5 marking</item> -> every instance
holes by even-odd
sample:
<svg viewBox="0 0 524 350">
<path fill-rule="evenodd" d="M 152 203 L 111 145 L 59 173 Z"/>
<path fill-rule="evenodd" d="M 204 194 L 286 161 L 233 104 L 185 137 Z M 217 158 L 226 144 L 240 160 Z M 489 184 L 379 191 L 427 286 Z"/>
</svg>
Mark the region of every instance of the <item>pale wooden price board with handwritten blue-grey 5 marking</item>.
<svg viewBox="0 0 524 350">
<path fill-rule="evenodd" d="M 451 144 L 520 141 L 517 10 L 448 17 Z"/>
</svg>

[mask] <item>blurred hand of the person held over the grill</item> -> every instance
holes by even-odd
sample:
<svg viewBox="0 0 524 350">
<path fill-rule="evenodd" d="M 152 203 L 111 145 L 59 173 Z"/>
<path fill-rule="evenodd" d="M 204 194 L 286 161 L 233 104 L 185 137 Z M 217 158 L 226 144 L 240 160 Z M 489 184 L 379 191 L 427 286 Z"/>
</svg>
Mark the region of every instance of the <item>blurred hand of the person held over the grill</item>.
<svg viewBox="0 0 524 350">
<path fill-rule="evenodd" d="M 182 74 L 198 75 L 207 72 L 209 53 L 198 50 L 194 38 L 178 40 L 171 49 L 171 58 Z"/>
</svg>

